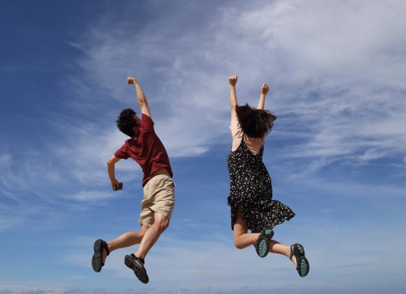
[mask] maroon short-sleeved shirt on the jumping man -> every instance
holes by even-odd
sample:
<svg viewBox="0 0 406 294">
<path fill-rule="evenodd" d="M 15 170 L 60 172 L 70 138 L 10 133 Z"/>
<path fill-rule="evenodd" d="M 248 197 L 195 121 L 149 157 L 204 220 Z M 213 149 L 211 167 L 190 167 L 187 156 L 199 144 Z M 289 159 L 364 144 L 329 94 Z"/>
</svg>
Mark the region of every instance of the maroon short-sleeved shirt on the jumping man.
<svg viewBox="0 0 406 294">
<path fill-rule="evenodd" d="M 143 187 L 158 169 L 167 169 L 172 177 L 167 151 L 157 134 L 155 134 L 153 120 L 144 113 L 141 116 L 139 130 L 139 135 L 125 141 L 125 144 L 114 153 L 114 156 L 125 160 L 132 158 L 139 163 L 144 172 Z"/>
</svg>

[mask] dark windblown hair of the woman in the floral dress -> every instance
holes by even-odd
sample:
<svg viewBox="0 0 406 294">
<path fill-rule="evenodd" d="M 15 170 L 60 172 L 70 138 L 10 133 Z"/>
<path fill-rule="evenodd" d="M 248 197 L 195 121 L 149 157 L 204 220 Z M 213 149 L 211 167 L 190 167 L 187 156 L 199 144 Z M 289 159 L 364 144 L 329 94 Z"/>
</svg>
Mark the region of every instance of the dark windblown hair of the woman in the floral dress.
<svg viewBox="0 0 406 294">
<path fill-rule="evenodd" d="M 266 136 L 271 132 L 274 120 L 276 120 L 276 116 L 270 111 L 254 109 L 248 104 L 237 106 L 236 111 L 239 125 L 248 137 Z"/>
</svg>

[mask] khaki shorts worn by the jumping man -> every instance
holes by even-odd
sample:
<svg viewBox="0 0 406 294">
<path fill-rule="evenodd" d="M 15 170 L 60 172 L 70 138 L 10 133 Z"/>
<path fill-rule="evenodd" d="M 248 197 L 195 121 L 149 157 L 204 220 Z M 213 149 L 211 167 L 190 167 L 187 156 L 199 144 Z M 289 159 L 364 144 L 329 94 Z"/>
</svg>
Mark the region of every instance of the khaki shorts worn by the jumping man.
<svg viewBox="0 0 406 294">
<path fill-rule="evenodd" d="M 175 183 L 170 176 L 158 174 L 144 186 L 144 199 L 141 202 L 139 223 L 151 227 L 154 213 L 162 214 L 168 219 L 175 206 Z"/>
</svg>

